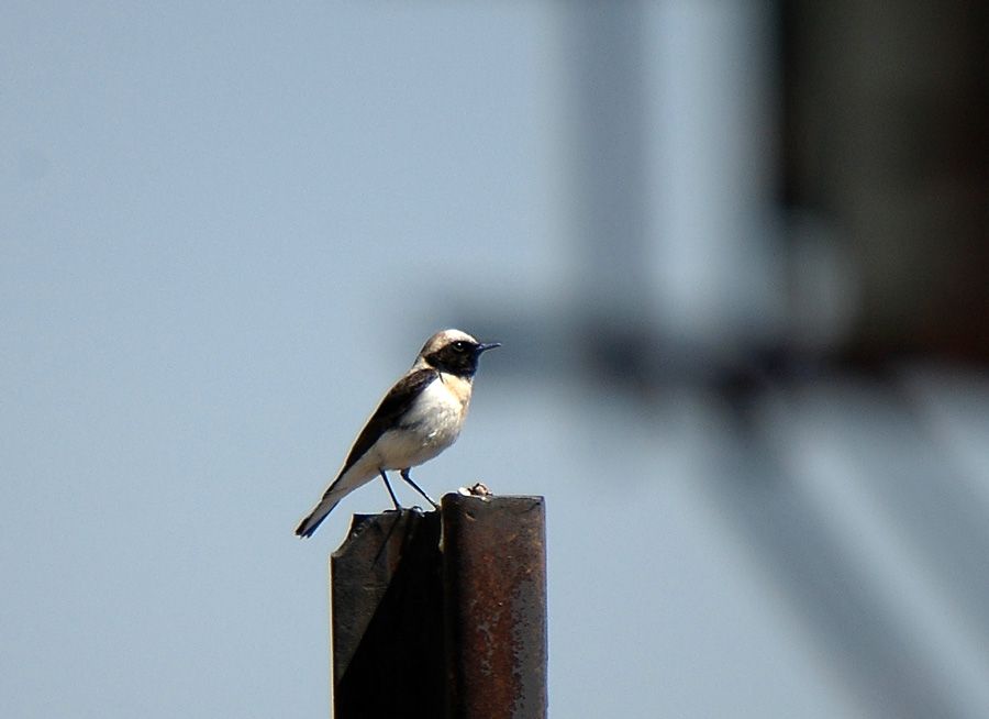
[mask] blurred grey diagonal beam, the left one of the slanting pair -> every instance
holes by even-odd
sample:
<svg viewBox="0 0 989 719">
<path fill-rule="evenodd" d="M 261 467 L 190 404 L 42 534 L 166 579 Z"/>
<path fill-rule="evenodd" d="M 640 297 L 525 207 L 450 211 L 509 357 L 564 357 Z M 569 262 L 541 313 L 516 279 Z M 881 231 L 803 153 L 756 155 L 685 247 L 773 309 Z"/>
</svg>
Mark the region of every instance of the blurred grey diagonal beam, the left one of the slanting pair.
<svg viewBox="0 0 989 719">
<path fill-rule="evenodd" d="M 813 631 L 815 645 L 871 716 L 962 719 L 912 628 L 889 611 L 836 524 L 789 478 L 776 438 L 743 421 L 719 443 L 708 497 L 753 547 Z M 840 526 L 840 523 L 838 523 Z"/>
</svg>

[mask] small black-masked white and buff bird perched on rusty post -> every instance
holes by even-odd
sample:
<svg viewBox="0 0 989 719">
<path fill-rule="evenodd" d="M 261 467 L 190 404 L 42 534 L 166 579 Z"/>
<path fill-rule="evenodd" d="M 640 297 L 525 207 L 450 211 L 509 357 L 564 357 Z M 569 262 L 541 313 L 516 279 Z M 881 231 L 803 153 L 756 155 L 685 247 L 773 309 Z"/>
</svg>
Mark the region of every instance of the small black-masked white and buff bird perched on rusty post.
<svg viewBox="0 0 989 719">
<path fill-rule="evenodd" d="M 385 480 L 395 508 L 401 509 L 388 471 L 398 469 L 402 479 L 437 507 L 409 472 L 456 441 L 467 418 L 478 360 L 500 346 L 500 342 L 478 342 L 460 330 L 442 330 L 426 340 L 412 367 L 367 420 L 336 478 L 296 534 L 312 537 L 341 499 L 376 476 Z"/>
</svg>

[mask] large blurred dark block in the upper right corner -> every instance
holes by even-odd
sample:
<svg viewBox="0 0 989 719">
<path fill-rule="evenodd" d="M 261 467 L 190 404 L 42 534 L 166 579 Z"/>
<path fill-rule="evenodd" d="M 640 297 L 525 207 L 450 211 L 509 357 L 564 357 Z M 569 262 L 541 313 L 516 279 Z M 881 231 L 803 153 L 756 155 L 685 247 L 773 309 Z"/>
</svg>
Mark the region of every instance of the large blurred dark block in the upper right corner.
<svg viewBox="0 0 989 719">
<path fill-rule="evenodd" d="M 781 3 L 785 182 L 854 258 L 846 356 L 989 361 L 989 4 Z"/>
</svg>

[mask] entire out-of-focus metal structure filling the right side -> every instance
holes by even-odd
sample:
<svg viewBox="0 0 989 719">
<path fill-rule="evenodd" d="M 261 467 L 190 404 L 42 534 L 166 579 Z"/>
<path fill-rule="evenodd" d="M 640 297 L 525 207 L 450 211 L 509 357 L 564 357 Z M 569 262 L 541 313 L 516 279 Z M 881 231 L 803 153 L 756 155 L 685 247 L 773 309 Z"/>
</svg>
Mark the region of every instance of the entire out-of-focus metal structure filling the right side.
<svg viewBox="0 0 989 719">
<path fill-rule="evenodd" d="M 663 9 L 632 0 L 564 11 L 576 290 L 562 320 L 524 327 L 531 316 L 518 312 L 514 327 L 487 322 L 505 328 L 503 338 L 520 334 L 519 325 L 529 332 L 513 343 L 525 372 L 566 367 L 585 387 L 624 390 L 645 418 L 668 401 L 656 391 L 665 385 L 716 405 L 711 466 L 698 485 L 763 562 L 863 716 L 986 716 L 984 506 L 958 457 L 932 434 L 923 419 L 931 408 L 911 397 L 898 363 L 947 358 L 984 369 L 989 361 L 989 5 L 742 3 L 752 13 L 745 26 L 712 20 L 730 15 L 729 5 L 688 4 L 677 12 L 696 13 L 694 34 L 685 41 L 664 29 L 667 43 L 684 43 L 681 54 L 685 45 L 701 48 L 686 60 L 649 27 Z M 763 36 L 755 25 L 769 30 Z M 702 65 L 725 37 L 773 45 L 770 63 L 776 53 L 774 66 L 759 68 L 778 82 L 764 114 L 752 113 L 764 122 L 738 125 L 768 137 L 762 150 L 777 165 L 775 186 L 755 191 L 746 180 L 758 172 L 746 165 L 756 153 L 737 147 L 745 136 L 725 140 L 712 128 L 751 111 L 758 70 L 734 84 L 718 76 L 723 64 L 703 65 L 707 75 L 669 70 L 681 95 L 662 102 L 694 103 L 693 114 L 674 108 L 696 121 L 690 137 L 670 139 L 675 132 L 649 114 L 648 97 L 669 89 L 646 69 L 651 54 Z M 697 100 L 718 92 L 727 99 Z M 668 168 L 656 165 L 668 158 L 651 157 L 649 146 L 685 140 L 726 151 L 716 169 L 729 181 L 664 175 Z M 692 235 L 673 239 L 707 268 L 699 275 L 709 294 L 723 295 L 710 302 L 721 324 L 696 334 L 669 332 L 648 301 L 663 280 L 649 263 L 670 242 L 658 236 L 656 215 L 670 198 L 690 195 L 684 187 L 700 190 L 693 199 L 703 212 L 731 220 L 704 224 L 703 246 L 690 247 Z M 760 206 L 766 233 L 775 219 L 778 244 L 759 244 L 734 222 L 743 213 L 725 207 L 742 196 Z M 724 257 L 751 264 L 710 269 Z M 778 285 L 773 309 L 781 322 L 736 321 L 743 294 L 731 283 L 742 286 L 773 263 L 779 274 L 756 273 L 755 284 Z M 545 352 L 526 357 L 526 347 Z M 563 360 L 546 361 L 554 352 Z M 565 364 L 568 355 L 584 365 Z M 985 405 L 978 414 L 987 416 Z"/>
</svg>

